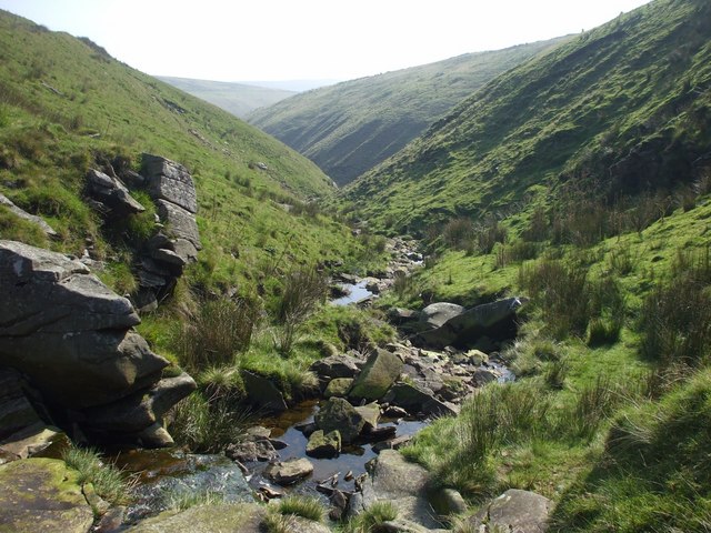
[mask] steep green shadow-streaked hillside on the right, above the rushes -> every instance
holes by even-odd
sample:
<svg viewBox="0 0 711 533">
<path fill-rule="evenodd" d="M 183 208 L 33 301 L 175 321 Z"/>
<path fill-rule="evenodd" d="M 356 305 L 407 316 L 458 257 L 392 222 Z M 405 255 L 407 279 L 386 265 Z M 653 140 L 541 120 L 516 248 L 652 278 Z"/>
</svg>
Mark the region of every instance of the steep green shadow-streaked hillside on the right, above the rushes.
<svg viewBox="0 0 711 533">
<path fill-rule="evenodd" d="M 497 78 L 343 198 L 421 232 L 565 182 L 610 201 L 673 188 L 711 150 L 710 64 L 711 4 L 658 0 Z"/>
</svg>

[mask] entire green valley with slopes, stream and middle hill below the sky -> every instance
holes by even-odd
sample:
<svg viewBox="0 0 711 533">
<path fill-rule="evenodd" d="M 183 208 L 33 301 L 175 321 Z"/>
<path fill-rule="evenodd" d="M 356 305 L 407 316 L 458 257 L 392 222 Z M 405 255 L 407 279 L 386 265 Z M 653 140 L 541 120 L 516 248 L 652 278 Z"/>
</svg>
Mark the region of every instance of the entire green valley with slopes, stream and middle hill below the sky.
<svg viewBox="0 0 711 533">
<path fill-rule="evenodd" d="M 0 531 L 711 530 L 708 1 L 251 117 L 292 148 L 0 43 Z"/>
</svg>

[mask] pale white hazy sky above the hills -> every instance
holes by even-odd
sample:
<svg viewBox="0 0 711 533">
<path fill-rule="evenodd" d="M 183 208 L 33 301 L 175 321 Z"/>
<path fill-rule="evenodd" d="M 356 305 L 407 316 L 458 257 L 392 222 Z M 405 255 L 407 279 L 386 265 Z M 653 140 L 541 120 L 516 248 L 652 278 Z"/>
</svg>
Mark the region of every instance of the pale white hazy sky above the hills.
<svg viewBox="0 0 711 533">
<path fill-rule="evenodd" d="M 153 76 L 349 80 L 592 29 L 649 0 L 0 0 Z"/>
</svg>

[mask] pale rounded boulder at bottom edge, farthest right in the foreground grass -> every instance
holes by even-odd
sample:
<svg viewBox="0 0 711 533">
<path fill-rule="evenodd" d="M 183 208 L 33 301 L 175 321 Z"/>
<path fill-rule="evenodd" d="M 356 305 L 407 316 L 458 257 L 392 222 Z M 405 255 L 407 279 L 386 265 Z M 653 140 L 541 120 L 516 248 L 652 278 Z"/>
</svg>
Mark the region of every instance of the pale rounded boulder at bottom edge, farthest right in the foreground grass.
<svg viewBox="0 0 711 533">
<path fill-rule="evenodd" d="M 530 491 L 509 489 L 485 504 L 468 522 L 479 531 L 512 531 L 515 533 L 543 533 L 548 531 L 548 517 L 552 502 Z"/>
</svg>

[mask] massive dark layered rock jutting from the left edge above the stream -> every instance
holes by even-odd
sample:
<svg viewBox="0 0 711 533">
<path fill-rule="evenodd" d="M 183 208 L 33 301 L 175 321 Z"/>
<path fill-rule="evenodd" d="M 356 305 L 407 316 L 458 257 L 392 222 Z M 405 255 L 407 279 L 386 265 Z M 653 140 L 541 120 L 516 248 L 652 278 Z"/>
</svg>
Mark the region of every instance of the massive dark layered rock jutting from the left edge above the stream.
<svg viewBox="0 0 711 533">
<path fill-rule="evenodd" d="M 167 444 L 161 418 L 194 389 L 133 326 L 131 302 L 79 261 L 0 241 L 0 365 L 21 372 L 49 411 L 88 433 Z"/>
</svg>

